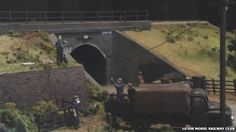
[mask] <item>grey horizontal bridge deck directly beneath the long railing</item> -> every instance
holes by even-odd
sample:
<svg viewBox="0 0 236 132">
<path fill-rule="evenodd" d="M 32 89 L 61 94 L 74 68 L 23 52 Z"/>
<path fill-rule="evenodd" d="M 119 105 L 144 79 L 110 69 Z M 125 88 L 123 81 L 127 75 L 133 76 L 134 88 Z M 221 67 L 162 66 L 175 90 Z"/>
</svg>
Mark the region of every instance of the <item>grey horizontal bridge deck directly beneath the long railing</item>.
<svg viewBox="0 0 236 132">
<path fill-rule="evenodd" d="M 45 31 L 50 33 L 76 33 L 94 31 L 129 30 L 134 28 L 150 29 L 151 21 L 66 21 L 66 22 L 1 22 L 0 31 L 27 32 Z"/>
</svg>

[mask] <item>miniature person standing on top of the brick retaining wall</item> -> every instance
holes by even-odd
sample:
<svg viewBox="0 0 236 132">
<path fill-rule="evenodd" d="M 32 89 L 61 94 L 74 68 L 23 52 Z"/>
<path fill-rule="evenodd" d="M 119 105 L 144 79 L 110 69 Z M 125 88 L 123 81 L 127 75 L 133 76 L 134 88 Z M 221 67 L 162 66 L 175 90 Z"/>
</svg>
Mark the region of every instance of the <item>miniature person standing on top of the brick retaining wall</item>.
<svg viewBox="0 0 236 132">
<path fill-rule="evenodd" d="M 62 40 L 62 37 L 61 35 L 58 36 L 58 40 L 56 42 L 56 49 L 57 49 L 57 64 L 61 64 L 63 63 L 64 61 L 63 60 L 66 60 L 66 56 L 64 54 L 64 44 L 65 42 Z M 66 63 L 66 62 L 65 62 Z"/>
</svg>

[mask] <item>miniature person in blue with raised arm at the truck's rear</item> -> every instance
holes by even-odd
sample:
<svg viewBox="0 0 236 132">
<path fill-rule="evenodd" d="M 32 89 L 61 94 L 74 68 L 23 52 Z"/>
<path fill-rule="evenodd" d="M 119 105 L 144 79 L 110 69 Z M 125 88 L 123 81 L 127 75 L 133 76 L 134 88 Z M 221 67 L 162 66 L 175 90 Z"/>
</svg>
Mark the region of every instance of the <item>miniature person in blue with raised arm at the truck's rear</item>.
<svg viewBox="0 0 236 132">
<path fill-rule="evenodd" d="M 117 82 L 115 83 L 113 80 L 113 77 L 111 77 L 112 84 L 116 88 L 116 94 L 117 94 L 117 101 L 121 102 L 123 98 L 123 93 L 124 93 L 124 87 L 125 85 L 122 82 L 122 78 L 118 78 Z"/>
</svg>

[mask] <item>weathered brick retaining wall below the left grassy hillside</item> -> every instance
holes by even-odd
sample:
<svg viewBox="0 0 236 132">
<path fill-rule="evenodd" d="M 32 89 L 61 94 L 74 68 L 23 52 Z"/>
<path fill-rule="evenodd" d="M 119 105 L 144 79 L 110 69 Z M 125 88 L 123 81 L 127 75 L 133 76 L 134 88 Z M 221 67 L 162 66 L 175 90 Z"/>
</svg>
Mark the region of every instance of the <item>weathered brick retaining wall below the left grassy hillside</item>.
<svg viewBox="0 0 236 132">
<path fill-rule="evenodd" d="M 73 95 L 79 95 L 83 105 L 88 101 L 82 66 L 0 75 L 0 104 L 26 106 L 51 99 L 59 104 Z"/>
</svg>

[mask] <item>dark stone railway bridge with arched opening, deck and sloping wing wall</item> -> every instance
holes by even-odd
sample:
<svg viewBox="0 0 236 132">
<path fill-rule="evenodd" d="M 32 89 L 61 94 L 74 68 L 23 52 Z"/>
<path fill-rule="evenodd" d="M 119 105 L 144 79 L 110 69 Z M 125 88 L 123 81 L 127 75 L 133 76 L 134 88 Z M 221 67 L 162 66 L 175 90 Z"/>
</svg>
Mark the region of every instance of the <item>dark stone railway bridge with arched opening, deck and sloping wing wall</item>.
<svg viewBox="0 0 236 132">
<path fill-rule="evenodd" d="M 72 49 L 71 56 L 82 63 L 85 70 L 100 84 L 109 83 L 111 76 L 122 77 L 125 82 L 137 84 L 138 71 L 149 83 L 163 74 L 180 72 L 168 61 L 146 51 L 119 31 L 140 28 L 149 30 L 151 22 L 91 21 L 47 23 L 0 23 L 0 31 L 45 31 L 62 35 Z"/>
</svg>

